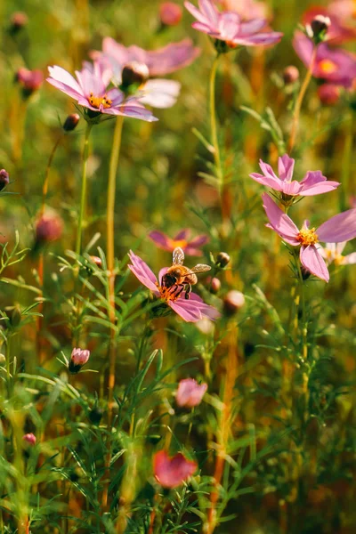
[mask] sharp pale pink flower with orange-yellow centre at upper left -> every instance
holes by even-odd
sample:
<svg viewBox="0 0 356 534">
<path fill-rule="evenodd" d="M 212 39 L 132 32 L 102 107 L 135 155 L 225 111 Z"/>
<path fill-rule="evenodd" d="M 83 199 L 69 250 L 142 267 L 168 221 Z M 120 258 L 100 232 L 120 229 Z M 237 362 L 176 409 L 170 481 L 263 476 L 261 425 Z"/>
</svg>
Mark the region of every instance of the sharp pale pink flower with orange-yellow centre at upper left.
<svg viewBox="0 0 356 534">
<path fill-rule="evenodd" d="M 97 113 L 141 118 L 149 122 L 158 120 L 136 97 L 125 98 L 125 94 L 117 88 L 108 90 L 111 72 L 102 65 L 85 62 L 84 68 L 76 71 L 77 80 L 61 67 L 49 67 L 48 70 L 50 77 L 47 82 L 85 108 Z"/>
</svg>

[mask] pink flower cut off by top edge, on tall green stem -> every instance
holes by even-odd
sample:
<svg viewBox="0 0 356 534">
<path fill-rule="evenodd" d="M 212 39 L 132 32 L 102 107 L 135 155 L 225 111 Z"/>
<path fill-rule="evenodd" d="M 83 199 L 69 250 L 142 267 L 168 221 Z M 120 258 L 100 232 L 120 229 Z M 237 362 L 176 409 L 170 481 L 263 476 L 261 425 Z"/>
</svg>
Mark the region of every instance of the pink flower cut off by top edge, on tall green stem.
<svg viewBox="0 0 356 534">
<path fill-rule="evenodd" d="M 193 28 L 224 41 L 231 48 L 236 48 L 239 44 L 242 46 L 275 44 L 283 35 L 273 31 L 261 32 L 266 26 L 264 19 L 242 22 L 237 12 L 220 12 L 212 0 L 198 0 L 199 9 L 190 2 L 184 2 L 184 5 L 198 20 L 193 22 Z"/>
</svg>

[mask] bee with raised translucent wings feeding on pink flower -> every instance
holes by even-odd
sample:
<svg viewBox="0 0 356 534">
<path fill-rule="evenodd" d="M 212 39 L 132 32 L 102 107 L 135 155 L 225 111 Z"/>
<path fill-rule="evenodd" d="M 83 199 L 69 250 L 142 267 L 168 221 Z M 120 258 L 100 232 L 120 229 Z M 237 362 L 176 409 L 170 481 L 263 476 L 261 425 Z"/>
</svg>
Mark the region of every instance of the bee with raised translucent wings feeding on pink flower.
<svg viewBox="0 0 356 534">
<path fill-rule="evenodd" d="M 166 274 L 162 277 L 162 287 L 169 289 L 173 288 L 172 292 L 176 291 L 175 298 L 178 297 L 185 289 L 185 298 L 189 299 L 191 292 L 191 286 L 194 286 L 198 282 L 198 272 L 210 271 L 211 267 L 204 263 L 198 263 L 191 269 L 183 265 L 184 253 L 182 248 L 174 248 L 172 267 L 166 271 Z"/>
</svg>

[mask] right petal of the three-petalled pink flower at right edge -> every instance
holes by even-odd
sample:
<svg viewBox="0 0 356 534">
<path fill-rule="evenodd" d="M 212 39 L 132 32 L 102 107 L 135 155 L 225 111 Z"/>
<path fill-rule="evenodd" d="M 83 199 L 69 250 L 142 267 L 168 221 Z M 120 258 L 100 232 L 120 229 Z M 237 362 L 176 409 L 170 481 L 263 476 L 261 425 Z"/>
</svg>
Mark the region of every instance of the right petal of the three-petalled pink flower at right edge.
<svg viewBox="0 0 356 534">
<path fill-rule="evenodd" d="M 356 208 L 334 215 L 317 230 L 320 241 L 340 243 L 356 238 Z"/>
</svg>

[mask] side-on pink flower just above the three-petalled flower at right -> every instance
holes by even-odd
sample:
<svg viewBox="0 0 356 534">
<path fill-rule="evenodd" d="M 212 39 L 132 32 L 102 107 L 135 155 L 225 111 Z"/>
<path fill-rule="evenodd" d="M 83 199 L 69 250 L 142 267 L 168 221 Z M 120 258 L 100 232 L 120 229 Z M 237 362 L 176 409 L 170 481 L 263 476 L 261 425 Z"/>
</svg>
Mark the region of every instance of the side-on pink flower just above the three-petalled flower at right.
<svg viewBox="0 0 356 534">
<path fill-rule="evenodd" d="M 335 190 L 340 185 L 339 182 L 329 182 L 320 171 L 308 171 L 302 182 L 292 180 L 295 160 L 289 158 L 287 154 L 279 158 L 279 176 L 274 174 L 271 166 L 264 163 L 262 159 L 260 159 L 260 167 L 263 174 L 252 173 L 251 178 L 290 197 L 312 197 L 312 195 Z"/>
</svg>

